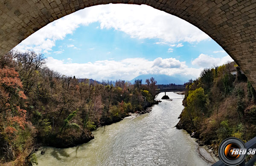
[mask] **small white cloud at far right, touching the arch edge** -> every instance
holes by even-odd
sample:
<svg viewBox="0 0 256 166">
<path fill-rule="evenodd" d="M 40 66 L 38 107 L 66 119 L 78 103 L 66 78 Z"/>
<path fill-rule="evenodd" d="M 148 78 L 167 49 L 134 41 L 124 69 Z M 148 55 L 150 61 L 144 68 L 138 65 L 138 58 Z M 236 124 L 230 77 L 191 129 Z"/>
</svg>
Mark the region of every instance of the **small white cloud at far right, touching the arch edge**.
<svg viewBox="0 0 256 166">
<path fill-rule="evenodd" d="M 192 65 L 197 65 L 200 67 L 210 67 L 214 65 L 223 65 L 228 61 L 233 61 L 233 59 L 229 55 L 222 58 L 216 58 L 207 54 L 200 54 L 197 58 L 195 58 L 195 60 L 192 60 Z"/>
</svg>

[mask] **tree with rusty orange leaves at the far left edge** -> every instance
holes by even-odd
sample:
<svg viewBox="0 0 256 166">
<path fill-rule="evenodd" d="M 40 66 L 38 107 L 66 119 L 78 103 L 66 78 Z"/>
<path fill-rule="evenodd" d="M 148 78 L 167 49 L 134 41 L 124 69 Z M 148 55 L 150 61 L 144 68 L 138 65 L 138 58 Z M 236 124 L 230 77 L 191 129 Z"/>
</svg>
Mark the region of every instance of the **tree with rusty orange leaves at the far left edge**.
<svg viewBox="0 0 256 166">
<path fill-rule="evenodd" d="M 8 122 L 4 124 L 7 133 L 24 129 L 26 124 L 26 110 L 20 108 L 27 98 L 20 90 L 22 87 L 15 69 L 0 69 L 0 114 Z M 14 127 L 14 123 L 18 126 Z"/>
</svg>

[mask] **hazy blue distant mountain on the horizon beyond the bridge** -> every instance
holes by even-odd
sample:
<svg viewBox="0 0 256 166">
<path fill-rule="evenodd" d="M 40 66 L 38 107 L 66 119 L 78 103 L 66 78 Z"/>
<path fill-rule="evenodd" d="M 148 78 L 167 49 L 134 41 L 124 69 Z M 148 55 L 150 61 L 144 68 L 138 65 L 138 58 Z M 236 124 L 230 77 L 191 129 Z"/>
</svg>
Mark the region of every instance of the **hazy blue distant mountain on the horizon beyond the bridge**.
<svg viewBox="0 0 256 166">
<path fill-rule="evenodd" d="M 187 82 L 188 80 L 185 80 L 185 78 L 177 78 L 173 76 L 169 76 L 166 74 L 142 74 L 138 77 L 135 77 L 130 82 L 134 83 L 135 80 L 142 80 L 142 83 L 145 83 L 145 80 L 147 78 L 154 77 L 154 79 L 157 81 L 157 84 L 169 84 L 169 83 L 175 83 L 177 85 L 183 85 L 184 82 Z"/>
</svg>

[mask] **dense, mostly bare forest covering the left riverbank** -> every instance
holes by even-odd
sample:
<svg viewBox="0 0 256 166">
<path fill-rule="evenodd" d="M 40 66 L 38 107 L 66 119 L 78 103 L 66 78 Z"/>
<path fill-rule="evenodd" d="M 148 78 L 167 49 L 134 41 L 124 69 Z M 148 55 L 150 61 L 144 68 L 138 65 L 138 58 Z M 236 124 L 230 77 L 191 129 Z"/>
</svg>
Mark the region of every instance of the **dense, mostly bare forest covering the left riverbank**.
<svg viewBox="0 0 256 166">
<path fill-rule="evenodd" d="M 48 69 L 42 54 L 0 58 L 0 163 L 37 164 L 39 146 L 71 147 L 154 103 L 156 80 L 92 82 Z"/>
</svg>

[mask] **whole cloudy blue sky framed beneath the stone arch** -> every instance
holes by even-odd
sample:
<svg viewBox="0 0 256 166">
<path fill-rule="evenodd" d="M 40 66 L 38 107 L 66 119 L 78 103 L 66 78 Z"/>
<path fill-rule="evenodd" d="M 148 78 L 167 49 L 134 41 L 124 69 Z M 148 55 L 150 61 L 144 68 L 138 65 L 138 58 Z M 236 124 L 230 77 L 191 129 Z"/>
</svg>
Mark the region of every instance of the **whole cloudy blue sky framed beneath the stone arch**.
<svg viewBox="0 0 256 166">
<path fill-rule="evenodd" d="M 195 26 L 149 6 L 93 6 L 48 24 L 15 49 L 43 53 L 47 66 L 80 78 L 131 80 L 140 74 L 196 78 L 232 60 Z"/>
</svg>

